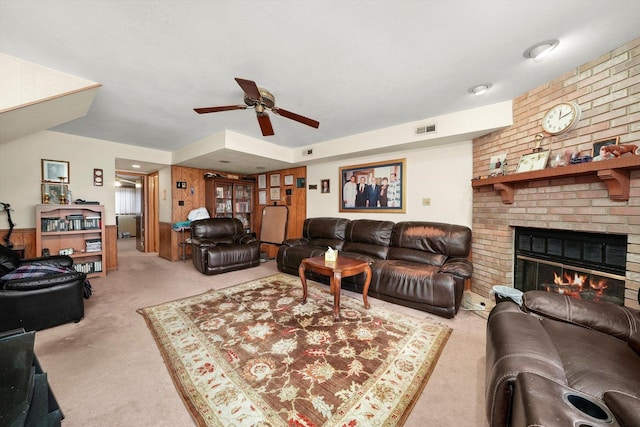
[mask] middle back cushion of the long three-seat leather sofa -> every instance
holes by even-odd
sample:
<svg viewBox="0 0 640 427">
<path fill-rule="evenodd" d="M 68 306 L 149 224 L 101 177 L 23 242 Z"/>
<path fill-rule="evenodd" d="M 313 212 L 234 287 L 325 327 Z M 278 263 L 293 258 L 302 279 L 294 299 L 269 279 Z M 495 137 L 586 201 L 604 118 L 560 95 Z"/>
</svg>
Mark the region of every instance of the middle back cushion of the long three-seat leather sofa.
<svg viewBox="0 0 640 427">
<path fill-rule="evenodd" d="M 344 252 L 354 252 L 385 259 L 393 231 L 393 222 L 358 219 L 347 224 Z"/>
</svg>

